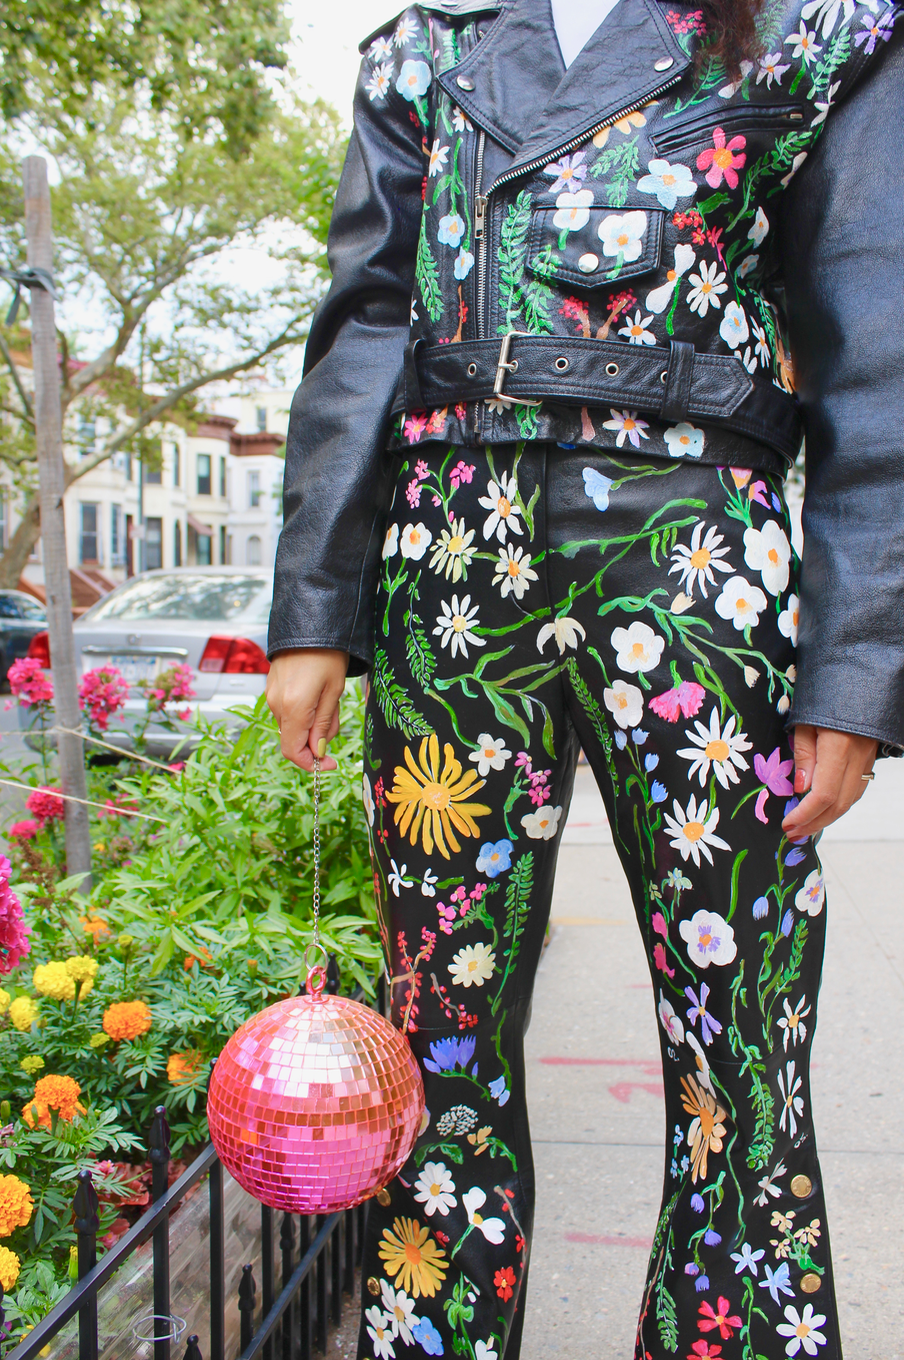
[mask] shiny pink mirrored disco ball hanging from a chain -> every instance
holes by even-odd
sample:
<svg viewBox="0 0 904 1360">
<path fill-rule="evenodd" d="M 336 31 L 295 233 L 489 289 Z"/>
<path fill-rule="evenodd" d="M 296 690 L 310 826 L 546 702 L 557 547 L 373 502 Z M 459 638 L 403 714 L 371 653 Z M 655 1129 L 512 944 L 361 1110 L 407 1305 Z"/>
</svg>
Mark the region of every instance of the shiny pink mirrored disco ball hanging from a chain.
<svg viewBox="0 0 904 1360">
<path fill-rule="evenodd" d="M 402 1035 L 345 997 L 279 1001 L 216 1059 L 207 1112 L 227 1171 L 290 1213 L 351 1209 L 402 1167 L 424 1085 Z"/>
</svg>

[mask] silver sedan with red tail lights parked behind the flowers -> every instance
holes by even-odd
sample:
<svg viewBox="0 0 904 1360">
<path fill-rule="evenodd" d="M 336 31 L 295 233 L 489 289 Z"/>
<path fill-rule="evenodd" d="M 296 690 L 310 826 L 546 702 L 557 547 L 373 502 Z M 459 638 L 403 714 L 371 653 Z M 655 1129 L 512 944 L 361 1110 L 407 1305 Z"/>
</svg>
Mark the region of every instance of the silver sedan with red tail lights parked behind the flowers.
<svg viewBox="0 0 904 1360">
<path fill-rule="evenodd" d="M 133 577 L 82 615 L 73 624 L 80 673 L 110 665 L 129 683 L 125 709 L 105 740 L 131 747 L 129 730 L 147 713 L 141 683 L 177 665 L 192 668 L 196 696 L 174 710 L 219 719 L 237 703 L 254 703 L 269 670 L 272 594 L 273 573 L 265 568 L 177 567 Z M 49 664 L 46 634 L 29 654 Z M 19 714 L 27 726 L 27 710 Z M 152 722 L 147 740 L 151 755 L 169 756 L 179 737 Z"/>
</svg>

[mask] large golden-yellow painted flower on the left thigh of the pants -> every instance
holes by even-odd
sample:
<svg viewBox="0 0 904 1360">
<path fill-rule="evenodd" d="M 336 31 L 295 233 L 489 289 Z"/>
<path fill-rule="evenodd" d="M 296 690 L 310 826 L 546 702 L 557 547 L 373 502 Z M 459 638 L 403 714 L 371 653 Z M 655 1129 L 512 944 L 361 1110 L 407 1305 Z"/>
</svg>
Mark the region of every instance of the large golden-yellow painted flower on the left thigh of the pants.
<svg viewBox="0 0 904 1360">
<path fill-rule="evenodd" d="M 461 762 L 455 759 L 449 741 L 443 745 L 440 770 L 435 732 L 421 741 L 416 762 L 411 747 L 405 747 L 405 766 L 396 766 L 393 787 L 386 794 L 397 805 L 396 824 L 413 846 L 417 845 L 420 832 L 424 854 L 432 854 L 435 845 L 440 855 L 449 860 L 449 846 L 455 851 L 461 850 L 455 832 L 462 836 L 479 835 L 474 819 L 487 816 L 491 811 L 484 802 L 465 802 L 487 781 L 479 779 L 476 770 L 462 772 Z"/>
</svg>

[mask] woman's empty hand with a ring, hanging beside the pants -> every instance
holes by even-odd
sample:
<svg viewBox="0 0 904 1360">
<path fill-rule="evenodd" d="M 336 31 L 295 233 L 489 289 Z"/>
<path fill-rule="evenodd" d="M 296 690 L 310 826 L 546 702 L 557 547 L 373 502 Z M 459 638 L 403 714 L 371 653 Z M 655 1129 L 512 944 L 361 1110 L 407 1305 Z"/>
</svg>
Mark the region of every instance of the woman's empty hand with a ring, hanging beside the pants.
<svg viewBox="0 0 904 1360">
<path fill-rule="evenodd" d="M 863 797 L 878 741 L 852 732 L 799 725 L 794 729 L 794 792 L 801 798 L 782 823 L 791 840 L 813 836 Z M 806 794 L 806 797 L 805 797 Z"/>
</svg>

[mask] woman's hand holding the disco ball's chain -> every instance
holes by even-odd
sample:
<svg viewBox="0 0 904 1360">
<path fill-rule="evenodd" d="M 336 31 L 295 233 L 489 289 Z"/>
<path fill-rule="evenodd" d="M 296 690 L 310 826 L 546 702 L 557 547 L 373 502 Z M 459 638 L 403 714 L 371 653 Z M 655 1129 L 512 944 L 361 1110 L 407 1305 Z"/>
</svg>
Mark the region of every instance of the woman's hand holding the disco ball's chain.
<svg viewBox="0 0 904 1360">
<path fill-rule="evenodd" d="M 332 647 L 294 647 L 280 651 L 266 677 L 266 702 L 280 729 L 287 760 L 309 772 L 314 756 L 321 770 L 334 770 L 326 743 L 338 732 L 338 700 L 345 688 L 348 653 Z"/>
</svg>

